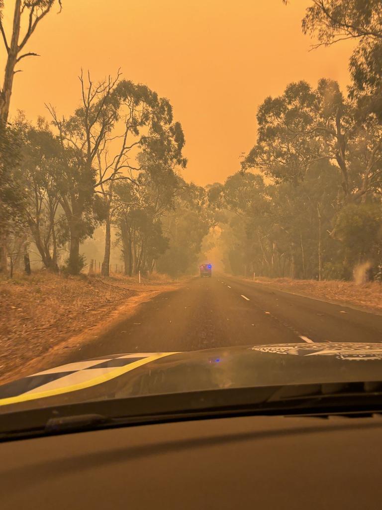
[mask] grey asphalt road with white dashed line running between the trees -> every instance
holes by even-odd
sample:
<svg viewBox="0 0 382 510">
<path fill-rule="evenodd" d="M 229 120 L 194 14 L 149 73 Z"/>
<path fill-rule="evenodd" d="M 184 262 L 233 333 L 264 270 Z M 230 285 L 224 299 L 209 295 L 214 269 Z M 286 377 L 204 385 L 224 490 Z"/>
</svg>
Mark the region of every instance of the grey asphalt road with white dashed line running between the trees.
<svg viewBox="0 0 382 510">
<path fill-rule="evenodd" d="M 195 277 L 66 362 L 124 352 L 165 352 L 291 342 L 380 342 L 382 315 L 274 290 L 239 278 Z"/>
</svg>

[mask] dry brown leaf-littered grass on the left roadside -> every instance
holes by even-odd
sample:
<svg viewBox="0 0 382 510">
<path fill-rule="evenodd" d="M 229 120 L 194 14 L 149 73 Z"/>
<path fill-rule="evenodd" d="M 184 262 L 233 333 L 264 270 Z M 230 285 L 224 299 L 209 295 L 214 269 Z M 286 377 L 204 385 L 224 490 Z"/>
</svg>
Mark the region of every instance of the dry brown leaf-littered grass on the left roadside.
<svg viewBox="0 0 382 510">
<path fill-rule="evenodd" d="M 64 277 L 46 271 L 0 281 L 0 380 L 101 323 L 132 296 L 167 290 L 169 279 Z"/>
</svg>

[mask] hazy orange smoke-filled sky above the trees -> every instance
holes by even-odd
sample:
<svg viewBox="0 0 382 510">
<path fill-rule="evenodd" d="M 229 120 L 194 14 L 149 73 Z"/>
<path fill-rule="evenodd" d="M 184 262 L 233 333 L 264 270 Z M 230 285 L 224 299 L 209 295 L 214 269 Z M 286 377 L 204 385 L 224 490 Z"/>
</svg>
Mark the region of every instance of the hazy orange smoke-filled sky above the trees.
<svg viewBox="0 0 382 510">
<path fill-rule="evenodd" d="M 9 27 L 14 2 L 6 0 Z M 291 81 L 349 83 L 351 43 L 309 51 L 301 31 L 309 0 L 62 0 L 32 36 L 15 75 L 11 113 L 68 115 L 79 104 L 80 68 L 116 74 L 170 99 L 183 126 L 184 177 L 205 185 L 239 169 L 256 139 L 256 110 Z M 2 66 L 5 50 L 2 49 Z"/>
</svg>

